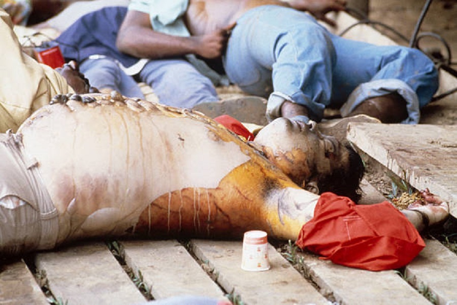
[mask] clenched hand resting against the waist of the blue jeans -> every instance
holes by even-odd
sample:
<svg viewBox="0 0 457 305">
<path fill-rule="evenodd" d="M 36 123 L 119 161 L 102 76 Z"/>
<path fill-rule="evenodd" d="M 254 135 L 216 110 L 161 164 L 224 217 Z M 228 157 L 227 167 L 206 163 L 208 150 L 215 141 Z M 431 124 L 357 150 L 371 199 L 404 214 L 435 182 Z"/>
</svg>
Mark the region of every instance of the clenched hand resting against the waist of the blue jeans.
<svg viewBox="0 0 457 305">
<path fill-rule="evenodd" d="M 227 46 L 228 37 L 235 24 L 232 24 L 224 29 L 216 30 L 210 34 L 195 36 L 197 39 L 197 55 L 203 58 L 214 59 L 220 57 Z"/>
</svg>

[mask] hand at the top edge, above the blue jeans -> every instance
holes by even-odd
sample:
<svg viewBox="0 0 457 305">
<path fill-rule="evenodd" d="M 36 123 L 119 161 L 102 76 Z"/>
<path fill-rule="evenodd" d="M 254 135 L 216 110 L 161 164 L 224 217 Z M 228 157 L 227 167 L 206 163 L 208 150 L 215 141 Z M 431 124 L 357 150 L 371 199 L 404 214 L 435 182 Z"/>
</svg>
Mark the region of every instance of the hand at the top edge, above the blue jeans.
<svg viewBox="0 0 457 305">
<path fill-rule="evenodd" d="M 329 12 L 339 12 L 346 9 L 345 0 L 292 0 L 290 6 L 299 11 L 308 11 L 316 19 L 335 26 L 335 22 L 325 15 Z"/>
</svg>

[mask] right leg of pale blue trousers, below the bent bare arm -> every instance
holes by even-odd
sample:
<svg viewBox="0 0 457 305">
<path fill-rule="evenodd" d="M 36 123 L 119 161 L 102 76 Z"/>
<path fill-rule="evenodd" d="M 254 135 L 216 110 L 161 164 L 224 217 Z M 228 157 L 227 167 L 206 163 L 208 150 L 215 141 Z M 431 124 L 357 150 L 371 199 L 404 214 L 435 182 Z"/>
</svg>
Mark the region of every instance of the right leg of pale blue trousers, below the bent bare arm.
<svg viewBox="0 0 457 305">
<path fill-rule="evenodd" d="M 139 76 L 165 105 L 192 108 L 219 100 L 211 80 L 184 59 L 151 60 Z"/>
</svg>

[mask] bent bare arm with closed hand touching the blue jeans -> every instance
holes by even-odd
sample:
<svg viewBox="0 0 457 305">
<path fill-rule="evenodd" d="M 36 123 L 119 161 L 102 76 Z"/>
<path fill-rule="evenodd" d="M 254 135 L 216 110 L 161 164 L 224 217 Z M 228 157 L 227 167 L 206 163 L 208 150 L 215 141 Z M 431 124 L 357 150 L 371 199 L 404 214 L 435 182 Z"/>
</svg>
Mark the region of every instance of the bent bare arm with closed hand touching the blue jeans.
<svg viewBox="0 0 457 305">
<path fill-rule="evenodd" d="M 150 59 L 196 54 L 204 58 L 217 58 L 227 42 L 225 29 L 213 33 L 179 37 L 154 31 L 149 15 L 128 11 L 117 36 L 118 49 L 126 54 Z"/>
</svg>

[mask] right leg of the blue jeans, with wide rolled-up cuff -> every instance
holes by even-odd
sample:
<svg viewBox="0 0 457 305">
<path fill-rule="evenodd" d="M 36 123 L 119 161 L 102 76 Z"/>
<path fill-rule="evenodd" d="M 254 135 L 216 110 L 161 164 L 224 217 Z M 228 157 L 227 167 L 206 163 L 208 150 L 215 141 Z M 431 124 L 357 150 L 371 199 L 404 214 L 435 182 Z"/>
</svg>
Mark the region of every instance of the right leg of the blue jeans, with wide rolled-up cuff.
<svg viewBox="0 0 457 305">
<path fill-rule="evenodd" d="M 409 118 L 404 123 L 418 123 L 419 108 L 429 103 L 438 89 L 438 72 L 425 54 L 338 36 L 332 36 L 332 41 L 337 54 L 332 104 L 345 103 L 343 115 L 367 98 L 397 92 L 407 101 Z"/>
</svg>

